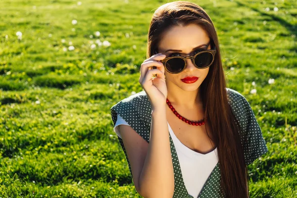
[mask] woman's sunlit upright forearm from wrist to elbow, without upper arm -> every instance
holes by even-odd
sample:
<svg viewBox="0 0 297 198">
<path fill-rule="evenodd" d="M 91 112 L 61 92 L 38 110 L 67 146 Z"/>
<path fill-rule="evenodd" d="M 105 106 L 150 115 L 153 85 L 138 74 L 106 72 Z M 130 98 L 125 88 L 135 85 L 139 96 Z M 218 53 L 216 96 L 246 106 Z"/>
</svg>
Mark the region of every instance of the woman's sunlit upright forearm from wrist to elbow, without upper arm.
<svg viewBox="0 0 297 198">
<path fill-rule="evenodd" d="M 148 154 L 140 175 L 142 193 L 148 198 L 172 198 L 174 174 L 166 109 L 152 110 Z"/>
</svg>

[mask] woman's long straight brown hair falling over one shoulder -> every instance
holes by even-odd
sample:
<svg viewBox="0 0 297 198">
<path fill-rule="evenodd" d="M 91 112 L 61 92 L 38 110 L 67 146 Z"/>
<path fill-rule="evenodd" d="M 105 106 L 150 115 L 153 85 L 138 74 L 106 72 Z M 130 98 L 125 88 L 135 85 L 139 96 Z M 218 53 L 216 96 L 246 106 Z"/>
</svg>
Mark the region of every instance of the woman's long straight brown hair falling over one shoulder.
<svg viewBox="0 0 297 198">
<path fill-rule="evenodd" d="M 239 135 L 240 125 L 228 103 L 218 37 L 210 17 L 203 8 L 189 1 L 174 1 L 160 6 L 149 25 L 147 58 L 158 51 L 159 40 L 166 30 L 193 23 L 206 31 L 212 48 L 216 49 L 214 62 L 200 85 L 200 95 L 205 121 L 209 123 L 212 141 L 217 145 L 221 193 L 227 198 L 248 198 L 247 166 Z M 207 130 L 206 133 L 210 138 Z"/>
</svg>

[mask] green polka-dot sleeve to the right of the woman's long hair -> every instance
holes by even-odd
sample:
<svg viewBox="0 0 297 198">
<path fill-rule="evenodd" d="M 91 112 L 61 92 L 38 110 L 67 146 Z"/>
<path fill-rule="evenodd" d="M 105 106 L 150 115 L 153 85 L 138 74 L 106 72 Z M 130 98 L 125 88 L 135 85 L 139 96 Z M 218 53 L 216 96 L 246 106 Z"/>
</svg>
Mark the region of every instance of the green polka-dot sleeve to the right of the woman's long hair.
<svg viewBox="0 0 297 198">
<path fill-rule="evenodd" d="M 265 154 L 268 148 L 247 99 L 235 90 L 228 90 L 232 111 L 240 123 L 240 136 L 244 148 L 246 165 L 249 165 L 258 157 Z"/>
</svg>

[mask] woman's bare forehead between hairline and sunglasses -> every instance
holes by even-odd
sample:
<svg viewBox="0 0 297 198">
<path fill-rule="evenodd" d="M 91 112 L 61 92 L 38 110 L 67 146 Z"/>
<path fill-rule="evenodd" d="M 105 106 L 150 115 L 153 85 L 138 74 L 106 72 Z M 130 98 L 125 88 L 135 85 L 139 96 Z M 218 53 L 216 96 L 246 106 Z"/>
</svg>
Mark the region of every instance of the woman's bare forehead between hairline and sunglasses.
<svg viewBox="0 0 297 198">
<path fill-rule="evenodd" d="M 193 48 L 208 42 L 209 37 L 206 31 L 197 24 L 173 26 L 163 33 L 158 49 L 160 51 L 179 49 L 190 52 Z"/>
</svg>

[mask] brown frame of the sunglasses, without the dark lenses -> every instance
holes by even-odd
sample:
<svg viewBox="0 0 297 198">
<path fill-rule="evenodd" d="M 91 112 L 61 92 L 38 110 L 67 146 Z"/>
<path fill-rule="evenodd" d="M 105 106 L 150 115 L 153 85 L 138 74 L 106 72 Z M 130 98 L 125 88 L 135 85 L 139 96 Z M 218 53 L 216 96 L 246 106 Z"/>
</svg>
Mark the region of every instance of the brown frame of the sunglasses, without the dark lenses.
<svg viewBox="0 0 297 198">
<path fill-rule="evenodd" d="M 171 71 L 168 71 L 169 73 L 171 73 L 171 74 L 178 74 L 178 73 L 181 73 L 182 71 L 184 71 L 184 69 L 187 67 L 187 61 L 186 61 L 186 59 L 191 59 L 192 60 L 192 63 L 195 65 L 195 67 L 197 67 L 198 69 L 205 69 L 205 68 L 207 68 L 207 67 L 198 67 L 196 64 L 195 64 L 195 58 L 196 58 L 196 56 L 198 56 L 199 54 L 201 54 L 201 53 L 211 53 L 212 54 L 212 61 L 211 61 L 211 63 L 207 66 L 207 67 L 209 67 L 212 63 L 213 63 L 213 61 L 214 61 L 214 57 L 215 57 L 215 53 L 216 53 L 216 49 L 214 48 L 214 49 L 207 49 L 207 50 L 203 50 L 203 51 L 200 51 L 200 52 L 198 52 L 197 54 L 195 54 L 194 56 L 186 56 L 186 57 L 184 57 L 184 56 L 172 56 L 172 57 L 167 57 L 167 58 L 164 58 L 163 60 L 161 60 L 161 62 L 163 63 L 163 65 L 164 65 L 164 67 L 165 67 L 165 69 L 168 71 L 168 69 L 166 68 L 166 62 L 167 62 L 167 60 L 170 60 L 170 59 L 172 59 L 172 58 L 182 58 L 184 61 L 185 61 L 185 65 L 184 65 L 184 68 L 180 71 L 180 72 L 171 72 Z"/>
</svg>

